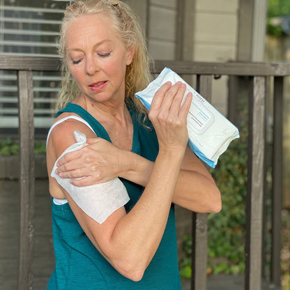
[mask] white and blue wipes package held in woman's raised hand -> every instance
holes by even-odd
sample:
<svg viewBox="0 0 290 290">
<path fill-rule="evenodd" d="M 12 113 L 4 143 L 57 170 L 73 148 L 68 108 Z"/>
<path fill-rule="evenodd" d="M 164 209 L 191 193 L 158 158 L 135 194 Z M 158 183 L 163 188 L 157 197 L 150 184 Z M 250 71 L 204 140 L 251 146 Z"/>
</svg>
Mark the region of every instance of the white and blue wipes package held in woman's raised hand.
<svg viewBox="0 0 290 290">
<path fill-rule="evenodd" d="M 143 102 L 147 109 L 150 109 L 156 91 L 168 81 L 172 84 L 178 81 L 186 84 L 170 68 L 164 68 L 160 75 L 148 84 L 146 89 L 135 93 L 135 96 Z M 222 116 L 215 107 L 192 89 L 189 84 L 186 84 L 186 86 L 185 96 L 189 92 L 193 95 L 187 120 L 188 145 L 201 160 L 214 168 L 218 158 L 227 150 L 230 142 L 240 137 L 238 128 Z M 184 100 L 185 97 L 183 102 Z"/>
</svg>

